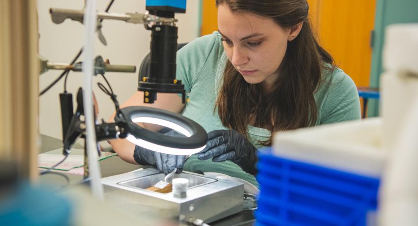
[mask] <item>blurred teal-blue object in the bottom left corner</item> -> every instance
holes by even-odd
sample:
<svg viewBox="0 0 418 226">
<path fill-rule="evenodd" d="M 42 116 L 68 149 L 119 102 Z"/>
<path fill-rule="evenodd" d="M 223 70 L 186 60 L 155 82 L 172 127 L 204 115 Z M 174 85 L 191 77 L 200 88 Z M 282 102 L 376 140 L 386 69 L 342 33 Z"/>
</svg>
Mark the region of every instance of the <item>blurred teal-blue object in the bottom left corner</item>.
<svg viewBox="0 0 418 226">
<path fill-rule="evenodd" d="M 16 191 L 1 191 L 1 226 L 69 226 L 71 202 L 46 188 L 20 185 Z M 7 198 L 4 198 L 7 195 Z"/>
</svg>

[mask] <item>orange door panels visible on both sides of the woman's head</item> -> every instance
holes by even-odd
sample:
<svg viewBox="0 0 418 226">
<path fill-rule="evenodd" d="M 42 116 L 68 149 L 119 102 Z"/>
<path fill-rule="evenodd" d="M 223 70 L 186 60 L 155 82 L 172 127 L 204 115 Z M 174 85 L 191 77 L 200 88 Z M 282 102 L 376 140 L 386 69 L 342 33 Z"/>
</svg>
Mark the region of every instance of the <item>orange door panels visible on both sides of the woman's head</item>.
<svg viewBox="0 0 418 226">
<path fill-rule="evenodd" d="M 217 30 L 214 0 L 203 0 L 201 34 Z M 376 0 L 308 0 L 310 18 L 323 47 L 356 85 L 370 80 L 370 35 Z"/>
</svg>

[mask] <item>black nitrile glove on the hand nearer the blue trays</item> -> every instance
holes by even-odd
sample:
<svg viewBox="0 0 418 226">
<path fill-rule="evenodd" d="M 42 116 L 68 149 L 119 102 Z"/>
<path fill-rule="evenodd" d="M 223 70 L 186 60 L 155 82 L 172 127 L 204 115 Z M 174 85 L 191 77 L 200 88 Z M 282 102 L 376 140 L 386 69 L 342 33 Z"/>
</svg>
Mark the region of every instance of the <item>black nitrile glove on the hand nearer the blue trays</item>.
<svg viewBox="0 0 418 226">
<path fill-rule="evenodd" d="M 197 153 L 197 158 L 200 160 L 212 158 L 213 162 L 231 160 L 245 172 L 255 175 L 256 151 L 257 148 L 236 130 L 214 130 L 208 133 L 206 147 Z"/>
</svg>

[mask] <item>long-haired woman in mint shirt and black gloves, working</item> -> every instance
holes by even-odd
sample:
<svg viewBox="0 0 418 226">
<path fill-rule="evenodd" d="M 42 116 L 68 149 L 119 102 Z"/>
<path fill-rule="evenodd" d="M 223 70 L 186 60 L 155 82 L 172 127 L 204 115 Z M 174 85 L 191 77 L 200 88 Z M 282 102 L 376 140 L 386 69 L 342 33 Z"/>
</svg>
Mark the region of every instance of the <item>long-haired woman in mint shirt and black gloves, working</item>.
<svg viewBox="0 0 418 226">
<path fill-rule="evenodd" d="M 208 133 L 207 148 L 171 156 L 118 140 L 124 160 L 211 171 L 255 185 L 256 150 L 272 133 L 360 118 L 354 82 L 315 40 L 306 0 L 216 0 L 218 32 L 189 43 L 177 55 L 177 79 L 189 95 L 158 94 L 152 106 L 189 117 Z M 144 105 L 135 93 L 124 106 Z M 147 126 L 149 129 L 154 129 Z M 173 132 L 171 132 L 173 133 Z M 227 161 L 230 160 L 230 161 Z"/>
</svg>

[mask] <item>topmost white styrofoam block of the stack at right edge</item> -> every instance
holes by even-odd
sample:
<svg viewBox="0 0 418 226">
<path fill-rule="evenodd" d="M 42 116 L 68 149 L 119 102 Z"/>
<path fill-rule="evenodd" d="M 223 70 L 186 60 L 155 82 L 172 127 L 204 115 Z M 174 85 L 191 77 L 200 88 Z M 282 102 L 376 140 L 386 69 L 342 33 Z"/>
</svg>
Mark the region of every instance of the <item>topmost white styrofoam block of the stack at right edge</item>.
<svg viewBox="0 0 418 226">
<path fill-rule="evenodd" d="M 418 73 L 418 24 L 393 24 L 386 28 L 383 67 L 386 71 Z"/>
</svg>

